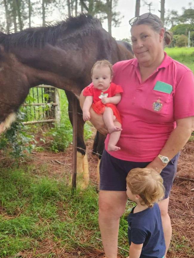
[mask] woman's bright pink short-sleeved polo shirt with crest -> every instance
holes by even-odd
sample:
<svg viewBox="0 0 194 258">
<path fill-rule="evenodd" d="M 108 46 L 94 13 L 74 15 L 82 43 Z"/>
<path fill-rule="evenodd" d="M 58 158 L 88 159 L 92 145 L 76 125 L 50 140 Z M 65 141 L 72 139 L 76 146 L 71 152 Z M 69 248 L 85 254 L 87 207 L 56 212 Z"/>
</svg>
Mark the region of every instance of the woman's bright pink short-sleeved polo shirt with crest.
<svg viewBox="0 0 194 258">
<path fill-rule="evenodd" d="M 152 161 L 175 128 L 175 120 L 194 115 L 193 72 L 166 53 L 161 65 L 144 82 L 136 58 L 117 62 L 113 71 L 113 82 L 124 90 L 117 105 L 123 130 L 117 143 L 121 150 L 109 153 L 121 160 Z M 165 92 L 162 83 L 161 91 L 155 90 L 158 81 L 168 84 L 172 92 Z M 109 135 L 106 151 L 108 139 Z"/>
</svg>

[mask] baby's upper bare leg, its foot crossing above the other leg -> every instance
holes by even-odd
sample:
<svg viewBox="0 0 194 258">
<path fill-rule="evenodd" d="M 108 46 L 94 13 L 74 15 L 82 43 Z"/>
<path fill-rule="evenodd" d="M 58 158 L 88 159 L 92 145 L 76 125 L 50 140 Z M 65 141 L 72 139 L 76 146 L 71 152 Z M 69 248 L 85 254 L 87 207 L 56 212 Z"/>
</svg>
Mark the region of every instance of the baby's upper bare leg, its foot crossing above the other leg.
<svg viewBox="0 0 194 258">
<path fill-rule="evenodd" d="M 110 107 L 105 107 L 103 113 L 103 120 L 108 129 L 108 132 L 111 134 L 112 132 L 122 131 L 121 124 L 120 127 L 116 126 L 113 121 L 113 110 Z"/>
</svg>

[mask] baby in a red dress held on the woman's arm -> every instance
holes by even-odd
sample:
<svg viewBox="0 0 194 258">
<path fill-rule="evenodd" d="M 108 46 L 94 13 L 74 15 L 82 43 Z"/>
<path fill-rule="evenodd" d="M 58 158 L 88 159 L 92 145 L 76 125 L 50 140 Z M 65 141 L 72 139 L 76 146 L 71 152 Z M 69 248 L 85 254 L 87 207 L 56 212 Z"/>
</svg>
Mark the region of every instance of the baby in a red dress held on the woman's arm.
<svg viewBox="0 0 194 258">
<path fill-rule="evenodd" d="M 83 105 L 83 119 L 90 120 L 90 107 L 97 114 L 103 114 L 104 123 L 110 133 L 108 151 L 118 151 L 116 146 L 121 134 L 121 117 L 116 104 L 121 100 L 123 89 L 111 82 L 112 65 L 107 60 L 97 61 L 91 70 L 92 83 L 87 86 L 83 95 L 86 96 Z"/>
</svg>

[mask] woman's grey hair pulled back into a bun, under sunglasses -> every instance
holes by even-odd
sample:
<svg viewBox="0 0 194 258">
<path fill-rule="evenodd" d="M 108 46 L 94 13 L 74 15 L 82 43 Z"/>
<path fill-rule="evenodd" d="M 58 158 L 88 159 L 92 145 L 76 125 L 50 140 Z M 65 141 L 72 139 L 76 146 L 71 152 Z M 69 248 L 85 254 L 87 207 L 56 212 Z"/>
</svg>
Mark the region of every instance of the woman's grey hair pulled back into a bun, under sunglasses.
<svg viewBox="0 0 194 258">
<path fill-rule="evenodd" d="M 146 18 L 143 18 L 143 15 L 145 15 Z M 140 25 L 140 24 L 150 25 L 152 27 L 152 29 L 157 33 L 160 32 L 161 28 L 164 28 L 164 24 L 161 21 L 161 19 L 157 15 L 152 14 L 152 13 L 150 13 L 150 15 L 147 15 L 147 13 L 142 14 L 141 18 L 137 18 L 137 20 L 131 25 L 131 27 L 133 27 L 135 25 Z M 166 29 L 165 29 L 164 45 L 170 45 L 172 40 L 173 40 L 173 33 L 170 31 L 166 31 Z"/>
</svg>

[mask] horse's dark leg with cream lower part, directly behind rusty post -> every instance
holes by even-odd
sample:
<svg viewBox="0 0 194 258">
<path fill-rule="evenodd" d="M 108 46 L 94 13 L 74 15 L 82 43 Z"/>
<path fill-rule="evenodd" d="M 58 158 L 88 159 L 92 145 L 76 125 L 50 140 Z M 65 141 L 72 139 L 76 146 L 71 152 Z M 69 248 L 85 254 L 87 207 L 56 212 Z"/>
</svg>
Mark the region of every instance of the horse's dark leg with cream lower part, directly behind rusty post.
<svg viewBox="0 0 194 258">
<path fill-rule="evenodd" d="M 73 126 L 73 97 L 74 94 L 65 90 L 68 100 L 68 114 Z M 78 100 L 77 100 L 78 101 Z M 84 120 L 82 110 L 78 101 L 77 110 L 77 182 L 81 188 L 86 188 L 89 184 L 88 160 L 86 154 L 86 145 L 84 143 Z"/>
</svg>

